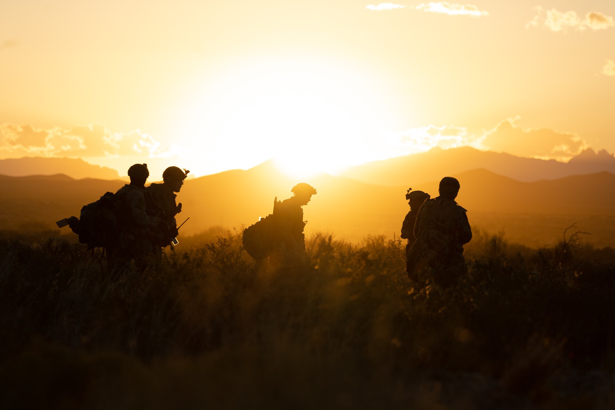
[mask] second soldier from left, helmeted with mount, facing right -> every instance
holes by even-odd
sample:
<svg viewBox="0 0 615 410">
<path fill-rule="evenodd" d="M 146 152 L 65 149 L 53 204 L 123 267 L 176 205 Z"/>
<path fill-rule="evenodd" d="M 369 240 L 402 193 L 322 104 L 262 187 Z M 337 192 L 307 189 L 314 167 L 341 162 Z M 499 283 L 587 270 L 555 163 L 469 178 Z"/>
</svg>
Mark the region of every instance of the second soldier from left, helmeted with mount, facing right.
<svg viewBox="0 0 615 410">
<path fill-rule="evenodd" d="M 168 167 L 162 173 L 163 183 L 152 183 L 145 188 L 145 204 L 149 215 L 159 217 L 161 227 L 145 243 L 141 257 L 135 260 L 140 270 L 162 268 L 162 247 L 169 246 L 178 234 L 175 215 L 181 212 L 181 203 L 175 202 L 175 192 L 179 192 L 190 171 L 178 167 Z"/>
</svg>

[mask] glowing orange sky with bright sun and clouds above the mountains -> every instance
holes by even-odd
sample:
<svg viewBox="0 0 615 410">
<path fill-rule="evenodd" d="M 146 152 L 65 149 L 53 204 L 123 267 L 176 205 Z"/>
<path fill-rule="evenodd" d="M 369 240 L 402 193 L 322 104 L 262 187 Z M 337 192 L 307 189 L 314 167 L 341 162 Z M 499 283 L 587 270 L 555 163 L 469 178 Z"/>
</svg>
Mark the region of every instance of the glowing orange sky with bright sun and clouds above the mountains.
<svg viewBox="0 0 615 410">
<path fill-rule="evenodd" d="M 615 151 L 615 2 L 538 6 L 4 0 L 0 158 L 202 175 Z"/>
</svg>

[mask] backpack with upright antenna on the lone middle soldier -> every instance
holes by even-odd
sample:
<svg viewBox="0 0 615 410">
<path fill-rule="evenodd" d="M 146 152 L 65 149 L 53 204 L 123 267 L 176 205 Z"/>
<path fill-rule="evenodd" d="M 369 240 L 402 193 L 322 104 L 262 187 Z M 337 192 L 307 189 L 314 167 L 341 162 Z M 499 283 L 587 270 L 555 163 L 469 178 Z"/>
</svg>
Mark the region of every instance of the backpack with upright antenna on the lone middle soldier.
<svg viewBox="0 0 615 410">
<path fill-rule="evenodd" d="M 279 246 L 279 215 L 282 201 L 274 199 L 273 213 L 245 228 L 242 244 L 248 255 L 256 260 L 267 257 Z"/>
</svg>

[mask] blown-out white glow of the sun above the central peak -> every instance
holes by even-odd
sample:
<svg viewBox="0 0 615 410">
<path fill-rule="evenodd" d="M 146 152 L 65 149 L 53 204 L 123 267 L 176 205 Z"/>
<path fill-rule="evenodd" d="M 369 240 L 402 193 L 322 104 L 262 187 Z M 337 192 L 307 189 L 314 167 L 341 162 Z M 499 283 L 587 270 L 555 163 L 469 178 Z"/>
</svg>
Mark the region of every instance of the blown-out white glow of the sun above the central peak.
<svg viewBox="0 0 615 410">
<path fill-rule="evenodd" d="M 373 159 L 365 147 L 389 121 L 391 96 L 377 78 L 341 63 L 318 56 L 256 59 L 221 74 L 214 86 L 186 98 L 178 137 L 191 149 L 182 155 L 198 161 L 232 153 L 214 159 L 223 169 L 274 157 L 299 175 Z"/>
</svg>

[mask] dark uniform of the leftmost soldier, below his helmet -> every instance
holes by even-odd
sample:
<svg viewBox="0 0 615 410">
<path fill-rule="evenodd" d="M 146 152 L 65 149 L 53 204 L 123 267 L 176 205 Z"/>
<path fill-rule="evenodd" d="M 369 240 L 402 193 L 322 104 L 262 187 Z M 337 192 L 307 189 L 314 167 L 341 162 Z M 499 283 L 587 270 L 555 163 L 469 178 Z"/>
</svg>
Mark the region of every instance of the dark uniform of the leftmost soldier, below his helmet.
<svg viewBox="0 0 615 410">
<path fill-rule="evenodd" d="M 119 243 L 106 246 L 109 271 L 113 274 L 130 270 L 130 260 L 143 254 L 151 230 L 159 225 L 158 218 L 150 217 L 145 211 L 144 188 L 124 185 L 116 195 L 122 198 L 125 231 L 127 235 Z"/>
</svg>

